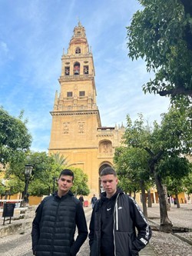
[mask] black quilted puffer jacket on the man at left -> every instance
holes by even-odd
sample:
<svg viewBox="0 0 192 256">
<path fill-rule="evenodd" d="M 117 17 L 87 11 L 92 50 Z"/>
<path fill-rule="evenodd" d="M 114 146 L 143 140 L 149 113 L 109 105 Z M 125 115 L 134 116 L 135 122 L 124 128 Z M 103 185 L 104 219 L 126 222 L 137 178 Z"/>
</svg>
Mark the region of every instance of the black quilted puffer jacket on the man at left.
<svg viewBox="0 0 192 256">
<path fill-rule="evenodd" d="M 74 231 L 78 237 L 74 241 Z M 88 236 L 84 210 L 71 191 L 61 198 L 45 198 L 36 210 L 32 224 L 32 250 L 37 256 L 76 255 Z"/>
</svg>

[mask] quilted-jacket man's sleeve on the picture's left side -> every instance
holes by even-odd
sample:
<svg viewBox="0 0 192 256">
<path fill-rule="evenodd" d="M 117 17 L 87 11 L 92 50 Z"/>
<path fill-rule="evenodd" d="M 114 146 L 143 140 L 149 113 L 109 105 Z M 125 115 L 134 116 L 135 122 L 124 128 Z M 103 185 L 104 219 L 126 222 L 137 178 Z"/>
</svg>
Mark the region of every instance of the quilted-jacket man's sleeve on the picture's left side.
<svg viewBox="0 0 192 256">
<path fill-rule="evenodd" d="M 38 205 L 38 208 L 35 211 L 35 218 L 32 222 L 32 231 L 31 231 L 31 238 L 32 238 L 32 251 L 35 255 L 36 247 L 38 245 L 38 239 L 40 235 L 39 224 L 41 221 L 41 211 L 42 211 L 42 202 Z"/>
</svg>

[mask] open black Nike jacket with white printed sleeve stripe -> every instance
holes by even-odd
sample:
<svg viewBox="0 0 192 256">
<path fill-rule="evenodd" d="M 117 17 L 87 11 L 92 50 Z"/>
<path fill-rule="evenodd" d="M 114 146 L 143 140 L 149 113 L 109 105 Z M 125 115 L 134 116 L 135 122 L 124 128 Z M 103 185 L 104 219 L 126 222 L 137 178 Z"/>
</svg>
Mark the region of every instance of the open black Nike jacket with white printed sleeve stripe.
<svg viewBox="0 0 192 256">
<path fill-rule="evenodd" d="M 101 199 L 94 205 L 91 215 L 89 244 L 91 256 L 101 255 L 101 207 L 102 198 L 106 193 L 101 194 Z M 124 194 L 121 189 L 117 191 L 114 201 L 114 255 L 115 256 L 136 256 L 138 251 L 146 246 L 151 238 L 151 228 L 144 218 L 141 208 L 133 198 Z M 137 228 L 137 235 L 135 228 Z M 108 244 L 106 244 L 108 247 Z"/>
</svg>

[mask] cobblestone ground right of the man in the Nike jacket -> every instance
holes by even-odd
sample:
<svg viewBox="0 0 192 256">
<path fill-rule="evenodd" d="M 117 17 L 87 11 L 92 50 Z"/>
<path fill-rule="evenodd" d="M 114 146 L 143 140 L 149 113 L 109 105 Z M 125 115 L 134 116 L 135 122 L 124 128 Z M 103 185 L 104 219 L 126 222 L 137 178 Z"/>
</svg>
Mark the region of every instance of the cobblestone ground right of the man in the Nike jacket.
<svg viewBox="0 0 192 256">
<path fill-rule="evenodd" d="M 149 220 L 160 224 L 158 204 L 154 204 L 152 208 L 147 208 L 147 212 Z M 170 218 L 174 228 L 192 229 L 192 204 L 180 204 L 180 208 L 171 205 L 168 218 Z M 180 240 L 176 235 L 192 244 L 192 232 L 176 233 L 174 235 L 153 231 L 150 244 L 157 256 L 192 256 L 192 245 Z"/>
</svg>

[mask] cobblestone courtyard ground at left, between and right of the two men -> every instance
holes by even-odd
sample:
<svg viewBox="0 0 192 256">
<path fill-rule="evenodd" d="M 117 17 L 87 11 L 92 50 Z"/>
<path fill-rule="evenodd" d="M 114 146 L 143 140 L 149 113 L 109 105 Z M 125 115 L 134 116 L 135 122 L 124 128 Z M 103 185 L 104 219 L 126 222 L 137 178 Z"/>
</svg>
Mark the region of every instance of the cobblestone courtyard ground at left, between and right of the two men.
<svg viewBox="0 0 192 256">
<path fill-rule="evenodd" d="M 181 208 L 171 207 L 168 217 L 173 223 L 174 228 L 192 229 L 192 204 L 181 204 Z M 153 204 L 152 208 L 147 208 L 149 221 L 160 224 L 159 205 Z M 91 209 L 85 209 L 86 218 L 91 217 Z M 26 221 L 25 219 L 20 221 Z M 15 221 L 16 222 L 16 221 Z M 152 222 L 151 222 L 152 223 Z M 14 221 L 12 221 L 14 224 Z M 7 226 L 8 224 L 5 224 Z M 31 256 L 31 228 L 21 232 L 22 234 L 12 234 L 0 238 L 0 256 Z M 2 227 L 0 227 L 2 228 Z M 23 234 L 24 233 L 24 234 Z M 177 236 L 179 238 L 177 238 Z M 150 244 L 140 252 L 140 256 L 192 256 L 192 232 L 167 234 L 159 231 L 153 231 Z M 190 243 L 182 241 L 180 238 L 187 239 Z M 84 242 L 78 256 L 88 256 L 88 239 Z"/>
</svg>

